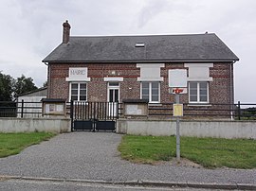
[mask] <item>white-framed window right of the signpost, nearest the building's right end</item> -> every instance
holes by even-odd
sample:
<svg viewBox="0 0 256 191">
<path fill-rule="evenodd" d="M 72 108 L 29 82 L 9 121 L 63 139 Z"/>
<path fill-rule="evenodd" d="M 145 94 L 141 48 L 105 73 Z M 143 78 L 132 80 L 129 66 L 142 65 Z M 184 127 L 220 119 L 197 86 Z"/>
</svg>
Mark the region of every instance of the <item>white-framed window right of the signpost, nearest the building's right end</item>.
<svg viewBox="0 0 256 191">
<path fill-rule="evenodd" d="M 209 82 L 189 82 L 190 103 L 209 103 Z"/>
</svg>

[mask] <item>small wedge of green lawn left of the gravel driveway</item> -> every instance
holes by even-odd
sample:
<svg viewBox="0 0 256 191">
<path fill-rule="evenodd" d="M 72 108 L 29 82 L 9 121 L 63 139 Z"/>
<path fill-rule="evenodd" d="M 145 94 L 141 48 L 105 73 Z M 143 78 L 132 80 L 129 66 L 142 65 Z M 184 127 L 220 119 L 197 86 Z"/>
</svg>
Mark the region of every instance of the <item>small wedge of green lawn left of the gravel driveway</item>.
<svg viewBox="0 0 256 191">
<path fill-rule="evenodd" d="M 46 141 L 54 135 L 50 132 L 0 133 L 0 158 L 18 154 L 24 148 Z"/>
</svg>

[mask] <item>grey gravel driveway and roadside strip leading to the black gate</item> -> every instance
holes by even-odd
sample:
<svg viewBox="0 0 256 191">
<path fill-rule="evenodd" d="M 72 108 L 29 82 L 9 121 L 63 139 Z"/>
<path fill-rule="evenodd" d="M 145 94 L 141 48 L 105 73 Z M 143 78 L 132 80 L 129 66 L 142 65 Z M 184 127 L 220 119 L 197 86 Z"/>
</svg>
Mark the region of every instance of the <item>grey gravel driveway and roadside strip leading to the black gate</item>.
<svg viewBox="0 0 256 191">
<path fill-rule="evenodd" d="M 0 175 L 104 181 L 161 181 L 256 184 L 256 169 L 205 169 L 192 166 L 136 165 L 123 161 L 112 132 L 60 134 L 22 153 L 0 159 Z"/>
</svg>

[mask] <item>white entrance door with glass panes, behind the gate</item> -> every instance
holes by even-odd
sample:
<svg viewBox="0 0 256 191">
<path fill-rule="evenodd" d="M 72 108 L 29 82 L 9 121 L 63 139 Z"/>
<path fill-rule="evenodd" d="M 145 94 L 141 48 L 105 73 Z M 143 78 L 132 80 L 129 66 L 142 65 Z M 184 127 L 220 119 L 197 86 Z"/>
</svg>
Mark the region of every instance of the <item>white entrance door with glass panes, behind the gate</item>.
<svg viewBox="0 0 256 191">
<path fill-rule="evenodd" d="M 119 82 L 108 82 L 108 116 L 117 116 L 119 108 Z"/>
</svg>

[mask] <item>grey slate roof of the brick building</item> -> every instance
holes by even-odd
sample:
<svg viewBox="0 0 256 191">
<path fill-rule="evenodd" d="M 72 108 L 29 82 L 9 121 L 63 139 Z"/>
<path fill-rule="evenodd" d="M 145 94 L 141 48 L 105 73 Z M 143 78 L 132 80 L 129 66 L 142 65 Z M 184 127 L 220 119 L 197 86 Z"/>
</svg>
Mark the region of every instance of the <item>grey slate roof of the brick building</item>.
<svg viewBox="0 0 256 191">
<path fill-rule="evenodd" d="M 137 42 L 145 43 L 136 47 Z M 70 37 L 43 62 L 238 61 L 214 33 Z"/>
</svg>

